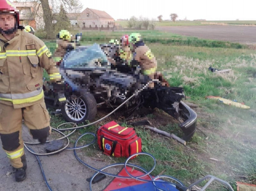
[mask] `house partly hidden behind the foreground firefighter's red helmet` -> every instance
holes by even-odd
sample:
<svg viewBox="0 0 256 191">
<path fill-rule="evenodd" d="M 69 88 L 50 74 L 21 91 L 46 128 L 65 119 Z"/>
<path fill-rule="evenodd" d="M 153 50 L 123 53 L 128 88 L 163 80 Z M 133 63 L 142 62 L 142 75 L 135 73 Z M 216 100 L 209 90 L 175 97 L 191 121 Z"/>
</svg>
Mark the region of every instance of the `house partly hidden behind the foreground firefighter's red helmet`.
<svg viewBox="0 0 256 191">
<path fill-rule="evenodd" d="M 20 12 L 20 25 L 30 25 L 35 30 L 44 27 L 43 9 L 36 1 L 12 3 Z M 36 13 L 36 14 L 35 14 Z M 35 16 L 33 16 L 35 15 Z"/>
</svg>

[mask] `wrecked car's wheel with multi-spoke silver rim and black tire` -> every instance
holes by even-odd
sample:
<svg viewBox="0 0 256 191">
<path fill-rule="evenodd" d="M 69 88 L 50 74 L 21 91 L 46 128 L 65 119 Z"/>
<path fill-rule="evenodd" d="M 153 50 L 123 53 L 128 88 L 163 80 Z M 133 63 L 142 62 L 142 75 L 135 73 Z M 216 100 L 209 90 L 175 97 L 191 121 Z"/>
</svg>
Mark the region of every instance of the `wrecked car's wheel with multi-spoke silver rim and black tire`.
<svg viewBox="0 0 256 191">
<path fill-rule="evenodd" d="M 68 122 L 82 123 L 92 121 L 97 113 L 97 103 L 92 94 L 80 96 L 74 100 L 67 98 L 67 103 L 61 106 L 62 116 Z"/>
</svg>

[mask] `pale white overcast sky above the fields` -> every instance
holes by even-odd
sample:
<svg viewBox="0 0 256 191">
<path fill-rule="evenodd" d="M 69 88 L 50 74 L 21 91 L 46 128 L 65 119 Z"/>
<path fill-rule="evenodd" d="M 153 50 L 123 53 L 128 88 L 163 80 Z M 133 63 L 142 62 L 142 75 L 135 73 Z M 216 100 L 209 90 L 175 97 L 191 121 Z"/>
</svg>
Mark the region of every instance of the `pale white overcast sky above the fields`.
<svg viewBox="0 0 256 191">
<path fill-rule="evenodd" d="M 256 20 L 256 0 L 81 0 L 83 9 L 106 11 L 115 20 L 131 16 L 169 20 L 171 13 L 178 20 L 208 21 Z"/>
</svg>

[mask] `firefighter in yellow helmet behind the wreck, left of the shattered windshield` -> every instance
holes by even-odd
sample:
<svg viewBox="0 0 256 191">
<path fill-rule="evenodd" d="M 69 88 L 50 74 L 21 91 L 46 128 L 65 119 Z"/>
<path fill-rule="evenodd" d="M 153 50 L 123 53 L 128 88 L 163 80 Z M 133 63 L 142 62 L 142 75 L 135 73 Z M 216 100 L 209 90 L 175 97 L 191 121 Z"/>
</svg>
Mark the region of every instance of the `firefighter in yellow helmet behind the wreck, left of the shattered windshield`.
<svg viewBox="0 0 256 191">
<path fill-rule="evenodd" d="M 61 30 L 57 34 L 57 49 L 54 52 L 53 60 L 59 65 L 64 57 L 64 55 L 74 50 L 75 42 L 72 40 L 72 35 L 67 30 Z"/>
</svg>

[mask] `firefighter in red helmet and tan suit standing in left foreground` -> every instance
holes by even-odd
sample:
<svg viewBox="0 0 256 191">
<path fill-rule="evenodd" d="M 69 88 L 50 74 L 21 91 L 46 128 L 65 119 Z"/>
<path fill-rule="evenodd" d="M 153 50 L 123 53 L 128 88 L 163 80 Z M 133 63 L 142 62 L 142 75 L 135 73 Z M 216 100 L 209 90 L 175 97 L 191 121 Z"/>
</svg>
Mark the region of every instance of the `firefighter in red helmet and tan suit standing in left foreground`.
<svg viewBox="0 0 256 191">
<path fill-rule="evenodd" d="M 33 138 L 45 143 L 51 133 L 44 101 L 43 70 L 51 81 L 61 76 L 47 46 L 19 26 L 19 12 L 9 0 L 0 3 L 0 139 L 2 148 L 16 169 L 15 180 L 26 178 L 22 120 Z M 65 96 L 59 95 L 65 102 Z"/>
</svg>

